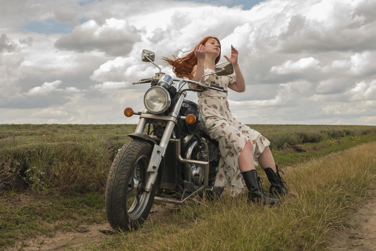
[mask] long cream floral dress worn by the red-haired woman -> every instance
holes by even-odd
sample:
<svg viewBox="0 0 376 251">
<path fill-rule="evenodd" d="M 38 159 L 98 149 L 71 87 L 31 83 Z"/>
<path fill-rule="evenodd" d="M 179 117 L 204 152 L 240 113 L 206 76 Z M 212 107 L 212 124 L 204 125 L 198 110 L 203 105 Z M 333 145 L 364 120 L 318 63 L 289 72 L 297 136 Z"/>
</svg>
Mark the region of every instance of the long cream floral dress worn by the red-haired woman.
<svg viewBox="0 0 376 251">
<path fill-rule="evenodd" d="M 214 72 L 204 66 L 204 74 Z M 194 74 L 193 74 L 194 75 Z M 210 84 L 227 87 L 236 81 L 234 75 L 217 76 L 216 74 L 205 77 Z M 193 89 L 193 84 L 188 85 Z M 205 132 L 219 143 L 221 153 L 218 164 L 217 176 L 214 186 L 229 187 L 230 195 L 236 196 L 243 189 L 242 175 L 238 166 L 238 157 L 243 151 L 248 140 L 252 142 L 253 162 L 258 166 L 257 158 L 270 142 L 258 131 L 238 122 L 231 114 L 227 93 L 208 89 L 197 92 L 197 104 L 205 116 Z"/>
</svg>

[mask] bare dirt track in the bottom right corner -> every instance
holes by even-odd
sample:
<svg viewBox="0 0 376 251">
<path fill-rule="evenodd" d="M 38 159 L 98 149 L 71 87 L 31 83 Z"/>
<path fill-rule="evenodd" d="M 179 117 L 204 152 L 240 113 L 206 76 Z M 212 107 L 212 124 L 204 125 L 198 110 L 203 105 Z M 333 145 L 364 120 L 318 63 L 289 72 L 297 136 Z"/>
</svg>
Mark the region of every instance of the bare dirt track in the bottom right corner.
<svg viewBox="0 0 376 251">
<path fill-rule="evenodd" d="M 376 250 L 376 192 L 354 214 L 351 223 L 356 227 L 338 230 L 333 240 L 333 250 Z"/>
</svg>

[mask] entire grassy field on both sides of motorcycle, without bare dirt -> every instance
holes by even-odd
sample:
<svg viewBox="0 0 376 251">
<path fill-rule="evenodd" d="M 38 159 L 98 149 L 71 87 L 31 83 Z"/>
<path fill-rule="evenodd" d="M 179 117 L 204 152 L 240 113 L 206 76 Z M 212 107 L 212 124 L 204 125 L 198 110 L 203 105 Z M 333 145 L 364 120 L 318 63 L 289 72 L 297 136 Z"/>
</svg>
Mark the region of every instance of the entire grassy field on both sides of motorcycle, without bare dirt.
<svg viewBox="0 0 376 251">
<path fill-rule="evenodd" d="M 367 197 L 373 184 L 376 126 L 250 127 L 271 141 L 276 162 L 288 167 L 285 180 L 301 195 L 298 200 L 270 209 L 222 196 L 214 204 L 206 202 L 208 207 L 182 206 L 167 223 L 148 221 L 141 230 L 109 237 L 94 248 L 324 248 L 328 231 L 344 224 L 346 213 Z M 53 236 L 57 230 L 105 221 L 108 170 L 134 129 L 135 125 L 0 125 L 0 249 L 38 234 Z M 353 150 L 356 154 L 321 158 L 367 142 L 367 147 Z M 153 241 L 140 236 L 152 236 Z"/>
</svg>

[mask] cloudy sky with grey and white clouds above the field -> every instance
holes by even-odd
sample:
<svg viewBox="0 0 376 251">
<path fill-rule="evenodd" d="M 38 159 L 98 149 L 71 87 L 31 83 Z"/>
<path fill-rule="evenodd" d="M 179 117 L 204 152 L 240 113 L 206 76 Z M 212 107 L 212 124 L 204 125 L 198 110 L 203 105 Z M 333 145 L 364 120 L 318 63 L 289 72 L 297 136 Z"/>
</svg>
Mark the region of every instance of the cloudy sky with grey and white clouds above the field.
<svg viewBox="0 0 376 251">
<path fill-rule="evenodd" d="M 162 56 L 213 35 L 239 51 L 243 123 L 376 125 L 376 0 L 0 2 L 0 123 L 137 123 L 141 50 L 173 75 Z"/>
</svg>

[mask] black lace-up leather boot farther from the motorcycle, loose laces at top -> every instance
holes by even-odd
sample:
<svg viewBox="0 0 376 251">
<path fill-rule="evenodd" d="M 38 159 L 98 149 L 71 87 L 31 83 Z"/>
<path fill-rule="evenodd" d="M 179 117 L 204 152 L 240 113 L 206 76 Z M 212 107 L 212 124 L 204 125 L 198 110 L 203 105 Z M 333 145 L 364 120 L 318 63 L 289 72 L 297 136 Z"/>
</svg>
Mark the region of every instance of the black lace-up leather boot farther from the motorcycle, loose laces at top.
<svg viewBox="0 0 376 251">
<path fill-rule="evenodd" d="M 277 172 L 275 173 L 273 169 L 268 167 L 267 169 L 264 169 L 266 176 L 268 176 L 268 180 L 270 182 L 270 189 L 269 189 L 269 195 L 273 198 L 279 198 L 280 196 L 291 196 L 296 197 L 294 193 L 289 192 L 287 188 L 285 187 L 284 183 L 286 182 L 282 179 L 282 177 L 279 175 L 279 172 L 282 172 L 285 174 L 282 170 L 278 169 L 278 166 L 276 165 Z"/>
</svg>

